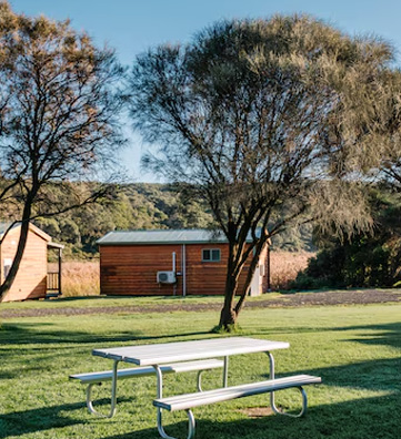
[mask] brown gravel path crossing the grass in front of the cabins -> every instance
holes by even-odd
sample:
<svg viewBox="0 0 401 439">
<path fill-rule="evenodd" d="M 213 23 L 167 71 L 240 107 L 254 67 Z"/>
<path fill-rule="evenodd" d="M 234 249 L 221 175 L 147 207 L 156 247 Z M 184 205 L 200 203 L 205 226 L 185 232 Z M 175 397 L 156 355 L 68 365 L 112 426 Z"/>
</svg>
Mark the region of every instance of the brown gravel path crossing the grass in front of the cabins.
<svg viewBox="0 0 401 439">
<path fill-rule="evenodd" d="M 401 290 L 347 290 L 285 294 L 278 298 L 248 302 L 247 308 L 278 308 L 324 305 L 367 305 L 401 302 Z M 172 312 L 203 312 L 220 310 L 221 304 L 169 304 L 143 306 L 99 306 L 99 307 L 60 307 L 36 309 L 2 309 L 0 318 L 14 317 L 46 317 L 46 316 L 77 316 L 90 314 L 133 314 L 133 313 L 172 313 Z"/>
</svg>

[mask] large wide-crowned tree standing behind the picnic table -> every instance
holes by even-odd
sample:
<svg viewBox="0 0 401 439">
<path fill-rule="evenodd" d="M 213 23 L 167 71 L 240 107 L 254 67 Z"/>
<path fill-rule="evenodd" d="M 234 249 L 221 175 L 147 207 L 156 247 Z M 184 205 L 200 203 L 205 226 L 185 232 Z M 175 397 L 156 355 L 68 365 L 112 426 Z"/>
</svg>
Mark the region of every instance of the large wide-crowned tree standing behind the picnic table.
<svg viewBox="0 0 401 439">
<path fill-rule="evenodd" d="M 200 194 L 229 242 L 220 327 L 235 324 L 269 238 L 312 220 L 369 226 L 361 185 L 341 178 L 341 118 L 354 72 L 390 61 L 385 43 L 304 16 L 219 22 L 137 58 L 133 126 L 159 145 L 143 163 Z"/>
</svg>

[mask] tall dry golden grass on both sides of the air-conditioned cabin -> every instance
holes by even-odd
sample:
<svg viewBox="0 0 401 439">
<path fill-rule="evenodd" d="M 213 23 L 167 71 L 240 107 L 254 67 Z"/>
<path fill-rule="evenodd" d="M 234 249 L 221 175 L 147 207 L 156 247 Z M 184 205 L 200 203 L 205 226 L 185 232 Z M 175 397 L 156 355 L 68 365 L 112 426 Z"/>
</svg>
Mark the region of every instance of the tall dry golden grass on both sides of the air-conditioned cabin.
<svg viewBox="0 0 401 439">
<path fill-rule="evenodd" d="M 299 270 L 305 268 L 308 259 L 314 253 L 272 252 L 271 285 L 272 289 L 285 289 Z M 49 264 L 56 269 L 56 264 Z M 96 296 L 100 294 L 99 262 L 64 262 L 62 265 L 63 297 Z"/>
</svg>

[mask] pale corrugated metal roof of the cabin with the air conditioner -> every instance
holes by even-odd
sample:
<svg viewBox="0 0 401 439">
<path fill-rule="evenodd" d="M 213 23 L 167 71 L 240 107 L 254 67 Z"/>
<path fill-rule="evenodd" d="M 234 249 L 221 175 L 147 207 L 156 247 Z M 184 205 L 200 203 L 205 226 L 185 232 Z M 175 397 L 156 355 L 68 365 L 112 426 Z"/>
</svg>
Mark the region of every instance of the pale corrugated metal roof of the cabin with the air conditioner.
<svg viewBox="0 0 401 439">
<path fill-rule="evenodd" d="M 227 243 L 222 232 L 208 229 L 116 231 L 98 239 L 99 245 Z"/>
</svg>

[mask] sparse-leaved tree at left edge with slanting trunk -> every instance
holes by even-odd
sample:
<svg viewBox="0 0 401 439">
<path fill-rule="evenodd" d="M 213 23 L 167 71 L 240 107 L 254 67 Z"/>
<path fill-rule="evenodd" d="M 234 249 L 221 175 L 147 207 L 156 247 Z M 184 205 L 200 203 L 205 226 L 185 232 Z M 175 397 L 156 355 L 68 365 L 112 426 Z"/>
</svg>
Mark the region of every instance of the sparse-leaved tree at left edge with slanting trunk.
<svg viewBox="0 0 401 439">
<path fill-rule="evenodd" d="M 21 234 L 0 299 L 12 285 L 29 222 L 92 203 L 122 144 L 118 113 L 123 69 L 68 21 L 16 14 L 0 2 L 0 202 L 22 201 Z M 62 197 L 51 196 L 51 185 Z"/>
</svg>

